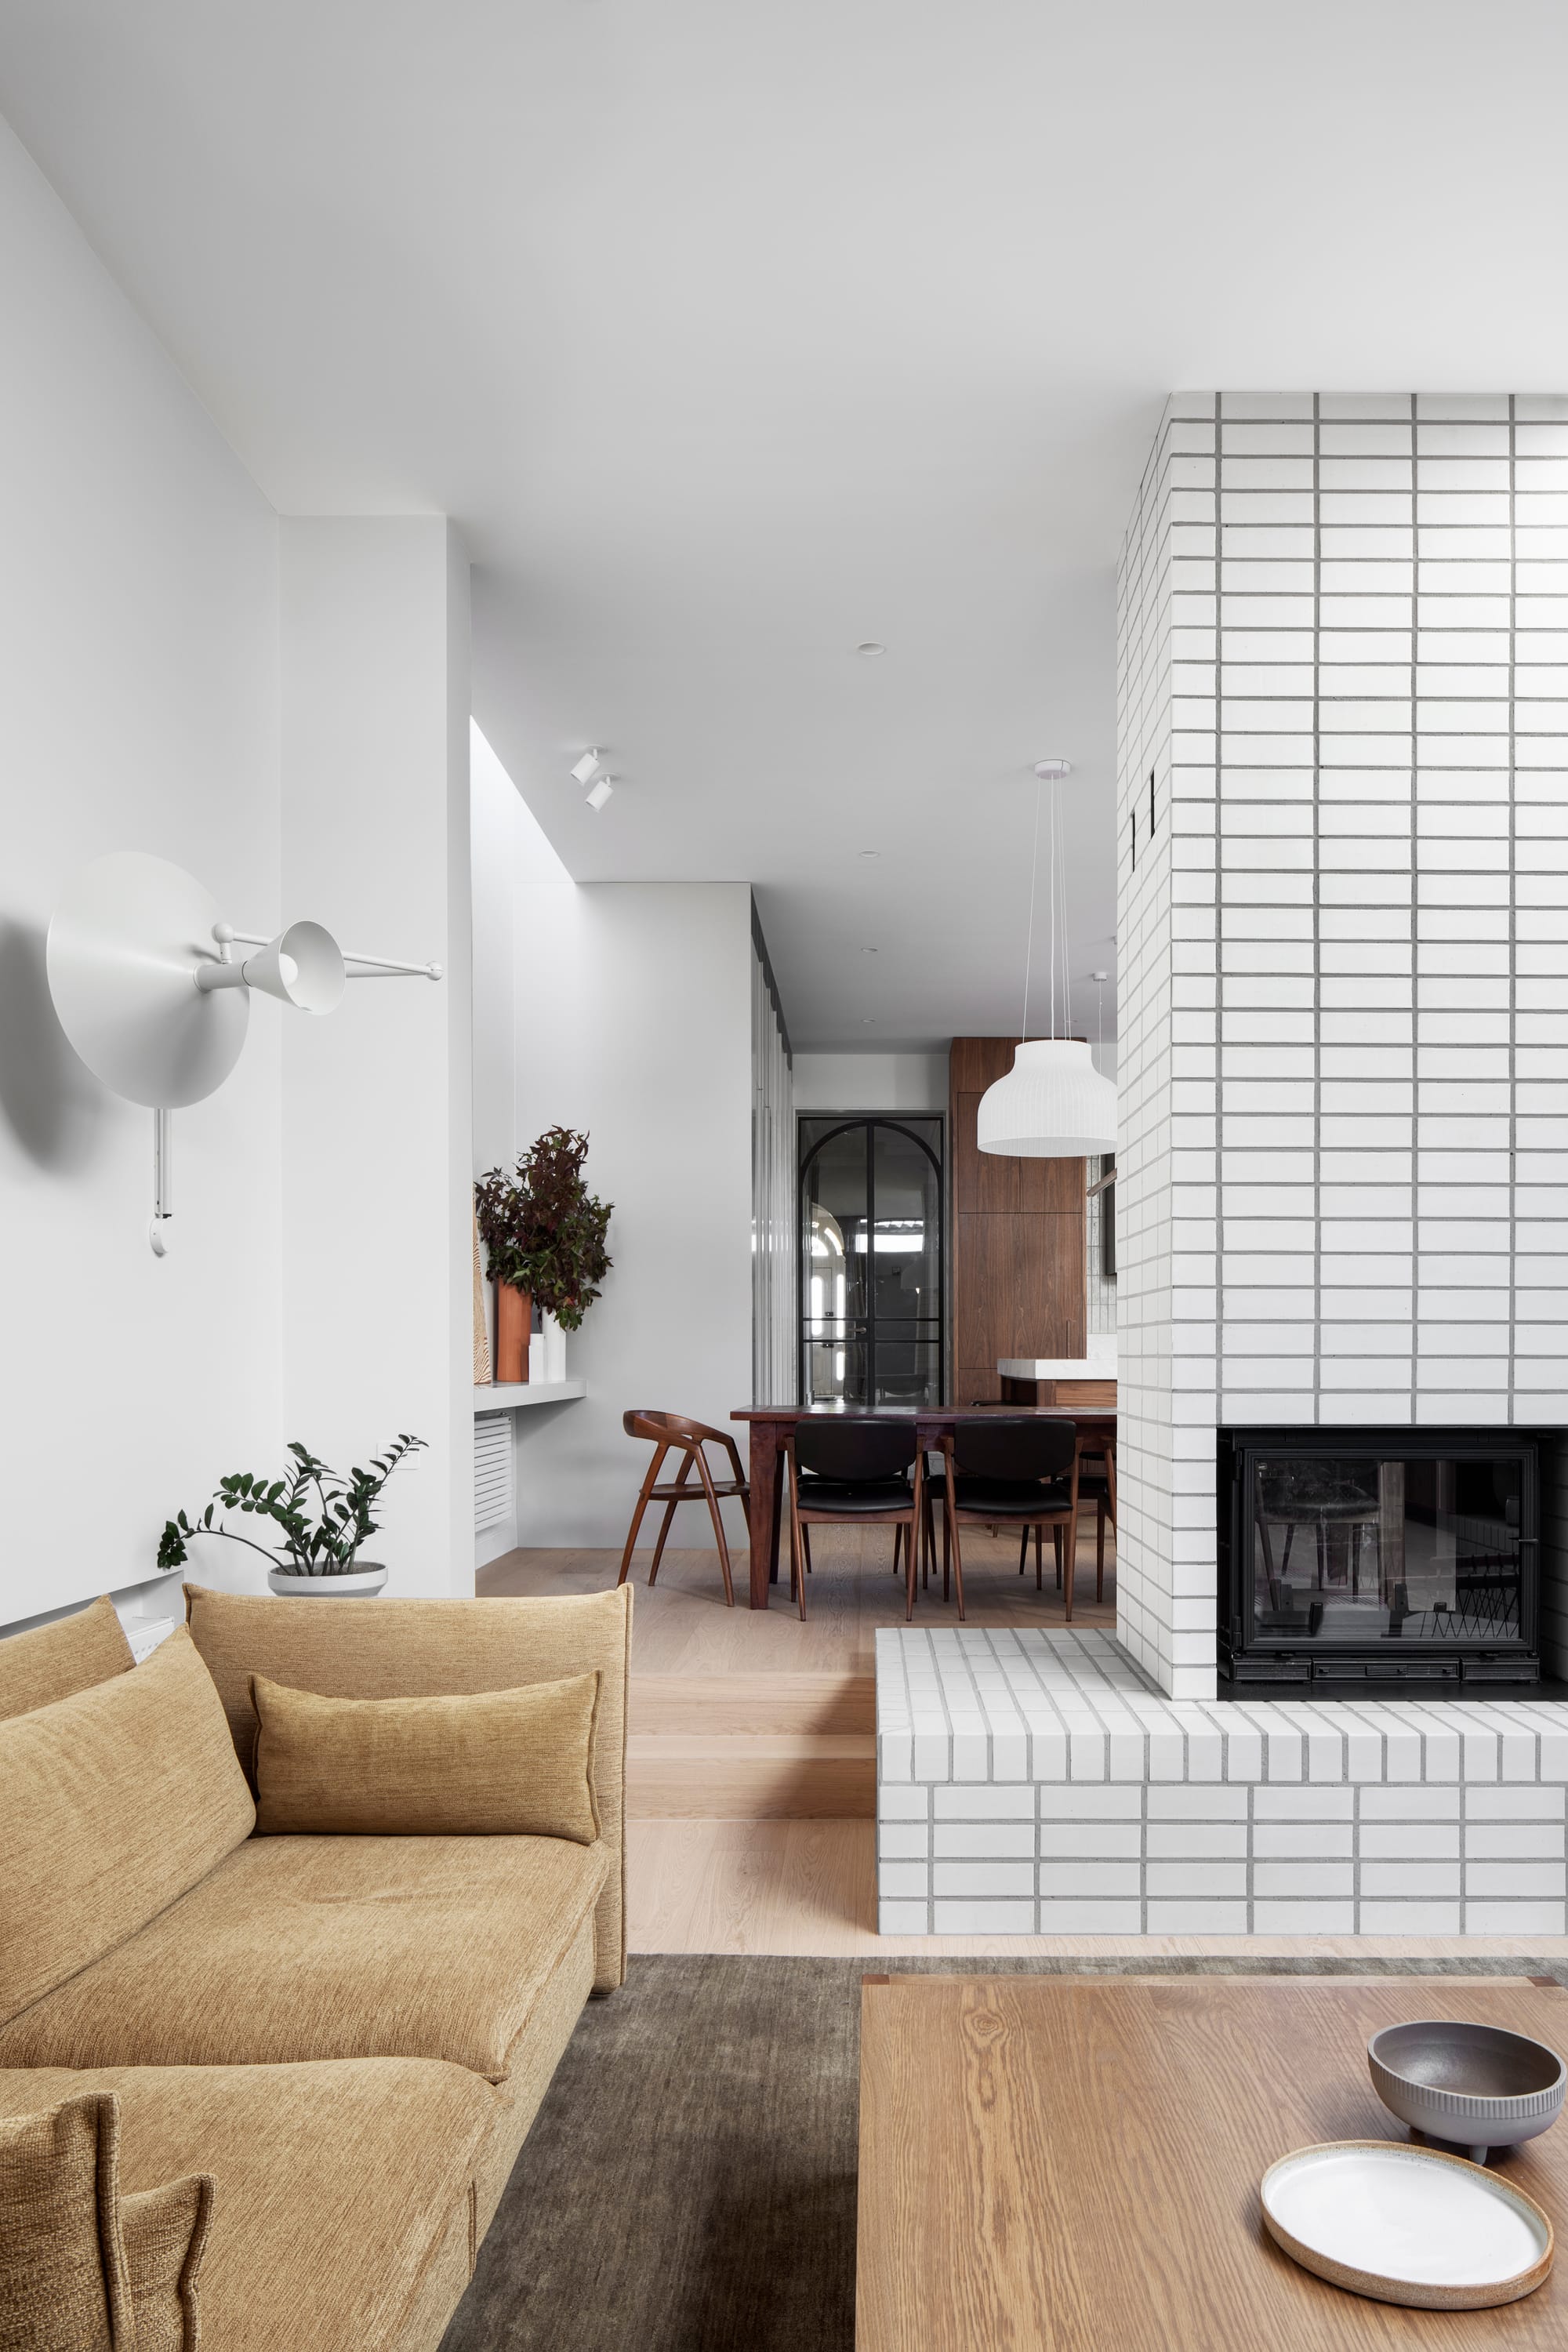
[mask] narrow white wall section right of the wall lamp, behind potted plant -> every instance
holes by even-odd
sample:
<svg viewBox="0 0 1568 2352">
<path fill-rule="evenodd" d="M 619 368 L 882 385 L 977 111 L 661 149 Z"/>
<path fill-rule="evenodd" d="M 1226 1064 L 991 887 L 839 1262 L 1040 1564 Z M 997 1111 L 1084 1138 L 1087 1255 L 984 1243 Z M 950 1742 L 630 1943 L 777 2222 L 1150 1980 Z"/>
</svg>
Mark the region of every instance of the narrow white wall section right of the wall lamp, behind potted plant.
<svg viewBox="0 0 1568 2352">
<path fill-rule="evenodd" d="M 367 1557 L 473 1592 L 468 562 L 440 517 L 282 524 L 282 868 L 355 981 L 284 1033 L 284 1435 L 428 1442 Z"/>
</svg>

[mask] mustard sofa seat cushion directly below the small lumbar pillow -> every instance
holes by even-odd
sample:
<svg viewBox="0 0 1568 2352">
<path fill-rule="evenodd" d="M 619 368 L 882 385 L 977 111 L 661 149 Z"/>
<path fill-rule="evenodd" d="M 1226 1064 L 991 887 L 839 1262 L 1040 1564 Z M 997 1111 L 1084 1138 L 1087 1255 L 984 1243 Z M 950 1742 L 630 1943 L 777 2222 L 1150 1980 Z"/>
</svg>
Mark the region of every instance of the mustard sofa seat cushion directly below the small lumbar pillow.
<svg viewBox="0 0 1568 2352">
<path fill-rule="evenodd" d="M 557 1837 L 256 1837 L 0 2025 L 0 2065 L 449 2058 L 501 2082 L 604 1870 Z"/>
</svg>

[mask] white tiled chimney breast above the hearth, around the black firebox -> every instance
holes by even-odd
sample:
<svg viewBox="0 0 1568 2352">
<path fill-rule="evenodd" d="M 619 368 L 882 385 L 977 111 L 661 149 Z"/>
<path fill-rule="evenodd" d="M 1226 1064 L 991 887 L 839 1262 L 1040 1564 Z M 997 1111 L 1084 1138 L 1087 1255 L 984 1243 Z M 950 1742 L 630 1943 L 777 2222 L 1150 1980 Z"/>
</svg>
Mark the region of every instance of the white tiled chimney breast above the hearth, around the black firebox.
<svg viewBox="0 0 1568 2352">
<path fill-rule="evenodd" d="M 1175 395 L 1119 706 L 1119 1635 L 1206 1698 L 1218 1425 L 1568 1423 L 1568 397 Z"/>
</svg>

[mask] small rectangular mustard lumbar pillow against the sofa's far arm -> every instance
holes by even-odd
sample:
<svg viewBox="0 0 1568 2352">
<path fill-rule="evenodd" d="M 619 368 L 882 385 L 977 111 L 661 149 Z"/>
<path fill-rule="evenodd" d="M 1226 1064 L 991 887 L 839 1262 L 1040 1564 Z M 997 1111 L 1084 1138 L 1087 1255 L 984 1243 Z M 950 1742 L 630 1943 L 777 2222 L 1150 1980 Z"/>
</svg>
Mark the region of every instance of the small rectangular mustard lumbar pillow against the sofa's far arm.
<svg viewBox="0 0 1568 2352">
<path fill-rule="evenodd" d="M 468 1698 L 317 1698 L 252 1675 L 256 1830 L 592 1846 L 597 1675 Z"/>
</svg>

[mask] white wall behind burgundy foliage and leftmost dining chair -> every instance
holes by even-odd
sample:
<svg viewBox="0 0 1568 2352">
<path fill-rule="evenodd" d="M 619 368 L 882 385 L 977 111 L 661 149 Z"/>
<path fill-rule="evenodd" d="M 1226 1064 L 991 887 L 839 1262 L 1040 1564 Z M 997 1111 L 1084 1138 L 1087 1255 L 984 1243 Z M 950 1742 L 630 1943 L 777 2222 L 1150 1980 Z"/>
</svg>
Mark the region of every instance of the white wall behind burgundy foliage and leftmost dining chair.
<svg viewBox="0 0 1568 2352">
<path fill-rule="evenodd" d="M 515 1416 L 517 1541 L 618 1548 L 646 1470 L 628 1406 L 724 1425 L 752 1397 L 750 889 L 578 887 L 541 842 L 498 762 L 477 757 L 475 873 L 515 887 L 475 889 L 475 1171 L 545 1127 L 588 1129 L 588 1183 L 614 1202 L 614 1270 L 567 1338 L 588 1397 Z M 743 1545 L 736 1505 L 726 1524 Z M 710 1545 L 705 1512 L 682 1512 L 675 1541 Z"/>
</svg>

